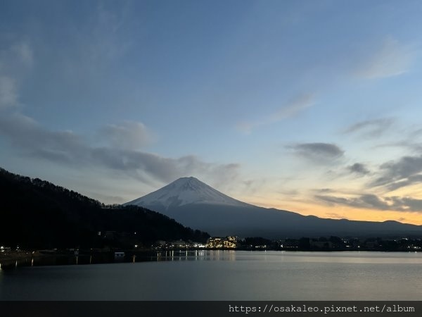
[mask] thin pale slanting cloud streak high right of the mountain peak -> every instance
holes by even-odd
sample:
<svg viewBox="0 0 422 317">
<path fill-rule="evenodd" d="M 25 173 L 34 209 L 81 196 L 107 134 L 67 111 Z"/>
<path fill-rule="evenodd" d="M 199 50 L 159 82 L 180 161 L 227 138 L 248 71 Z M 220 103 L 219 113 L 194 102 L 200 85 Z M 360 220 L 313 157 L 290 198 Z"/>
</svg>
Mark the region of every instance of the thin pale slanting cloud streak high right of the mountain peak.
<svg viewBox="0 0 422 317">
<path fill-rule="evenodd" d="M 279 111 L 271 113 L 269 116 L 264 117 L 261 120 L 243 121 L 238 123 L 236 128 L 243 133 L 250 133 L 253 129 L 259 128 L 262 125 L 269 125 L 286 118 L 296 116 L 298 113 L 300 113 L 300 111 L 304 111 L 306 108 L 309 108 L 313 104 L 313 94 L 301 94 L 300 96 L 288 102 L 288 104 L 281 107 Z"/>
</svg>

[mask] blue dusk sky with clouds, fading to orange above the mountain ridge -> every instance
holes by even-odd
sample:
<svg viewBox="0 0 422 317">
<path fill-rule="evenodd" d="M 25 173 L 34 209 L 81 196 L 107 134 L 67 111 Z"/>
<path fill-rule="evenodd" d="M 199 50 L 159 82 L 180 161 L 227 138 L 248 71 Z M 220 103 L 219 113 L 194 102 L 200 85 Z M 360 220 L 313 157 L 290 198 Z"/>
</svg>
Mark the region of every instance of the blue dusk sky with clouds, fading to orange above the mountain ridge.
<svg viewBox="0 0 422 317">
<path fill-rule="evenodd" d="M 0 166 L 106 204 L 194 176 L 422 225 L 421 1 L 0 1 Z"/>
</svg>

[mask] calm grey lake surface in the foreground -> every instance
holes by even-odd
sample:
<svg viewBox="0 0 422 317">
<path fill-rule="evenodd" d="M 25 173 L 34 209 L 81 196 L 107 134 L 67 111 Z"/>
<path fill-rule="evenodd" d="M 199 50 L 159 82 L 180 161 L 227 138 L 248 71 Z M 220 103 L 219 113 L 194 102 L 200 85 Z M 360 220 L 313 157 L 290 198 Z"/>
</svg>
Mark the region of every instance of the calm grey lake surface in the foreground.
<svg viewBox="0 0 422 317">
<path fill-rule="evenodd" d="M 0 271 L 3 300 L 420 300 L 422 254 L 198 251 Z"/>
</svg>

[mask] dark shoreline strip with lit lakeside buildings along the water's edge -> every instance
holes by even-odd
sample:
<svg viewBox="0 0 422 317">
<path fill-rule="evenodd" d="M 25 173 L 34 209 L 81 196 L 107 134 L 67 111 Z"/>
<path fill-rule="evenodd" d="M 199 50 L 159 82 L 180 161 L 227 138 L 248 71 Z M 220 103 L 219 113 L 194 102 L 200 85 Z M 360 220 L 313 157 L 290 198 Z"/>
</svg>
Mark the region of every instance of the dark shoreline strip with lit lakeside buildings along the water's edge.
<svg viewBox="0 0 422 317">
<path fill-rule="evenodd" d="M 110 236 L 110 235 L 109 235 Z M 113 237 L 115 238 L 115 237 Z M 73 265 L 113 262 L 164 261 L 168 256 L 192 255 L 191 251 L 233 250 L 233 251 L 400 251 L 422 250 L 422 239 L 399 237 L 342 238 L 301 237 L 267 240 L 263 237 L 236 236 L 209 237 L 206 243 L 191 240 L 158 240 L 154 244 L 134 244 L 132 247 L 111 247 L 101 249 L 43 249 L 23 250 L 19 246 L 0 246 L 0 269 L 18 266 Z M 198 255 L 198 253 L 196 253 Z"/>
</svg>

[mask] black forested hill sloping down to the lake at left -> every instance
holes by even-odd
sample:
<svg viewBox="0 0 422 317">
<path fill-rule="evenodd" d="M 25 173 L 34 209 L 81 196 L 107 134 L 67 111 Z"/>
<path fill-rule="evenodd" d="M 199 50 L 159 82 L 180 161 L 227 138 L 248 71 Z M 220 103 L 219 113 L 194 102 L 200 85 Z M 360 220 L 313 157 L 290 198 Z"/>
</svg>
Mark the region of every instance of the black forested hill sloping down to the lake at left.
<svg viewBox="0 0 422 317">
<path fill-rule="evenodd" d="M 155 240 L 201 242 L 208 237 L 160 213 L 136 206 L 105 206 L 51 182 L 2 168 L 0 193 L 0 244 L 12 247 L 127 247 Z"/>
</svg>

